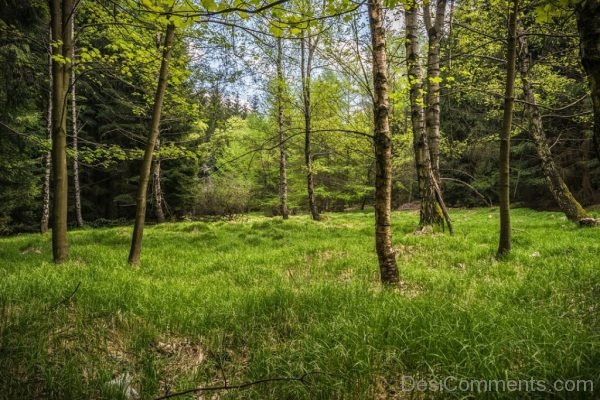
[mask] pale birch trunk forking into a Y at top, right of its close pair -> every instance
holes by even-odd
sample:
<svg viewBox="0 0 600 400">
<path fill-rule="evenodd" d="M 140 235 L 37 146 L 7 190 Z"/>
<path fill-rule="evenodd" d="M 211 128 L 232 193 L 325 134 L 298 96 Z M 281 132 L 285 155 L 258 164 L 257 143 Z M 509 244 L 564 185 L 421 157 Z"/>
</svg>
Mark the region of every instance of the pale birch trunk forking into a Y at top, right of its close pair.
<svg viewBox="0 0 600 400">
<path fill-rule="evenodd" d="M 427 51 L 427 109 L 425 124 L 431 169 L 440 184 L 440 40 L 446 16 L 446 0 L 437 0 L 435 20 L 432 21 L 430 5 L 423 9 L 429 47 Z"/>
</svg>

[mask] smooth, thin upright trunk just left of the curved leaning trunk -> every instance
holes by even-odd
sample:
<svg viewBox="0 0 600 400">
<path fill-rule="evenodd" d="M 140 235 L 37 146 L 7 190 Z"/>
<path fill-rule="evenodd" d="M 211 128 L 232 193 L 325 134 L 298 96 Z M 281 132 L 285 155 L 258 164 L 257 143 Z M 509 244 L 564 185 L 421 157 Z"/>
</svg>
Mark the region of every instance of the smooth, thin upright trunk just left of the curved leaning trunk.
<svg viewBox="0 0 600 400">
<path fill-rule="evenodd" d="M 512 8 L 508 17 L 508 48 L 506 67 L 506 86 L 504 91 L 504 117 L 500 133 L 500 241 L 497 257 L 502 258 L 510 253 L 510 132 L 512 128 L 512 112 L 515 92 L 515 69 L 517 58 L 517 15 L 519 0 L 512 0 Z"/>
</svg>

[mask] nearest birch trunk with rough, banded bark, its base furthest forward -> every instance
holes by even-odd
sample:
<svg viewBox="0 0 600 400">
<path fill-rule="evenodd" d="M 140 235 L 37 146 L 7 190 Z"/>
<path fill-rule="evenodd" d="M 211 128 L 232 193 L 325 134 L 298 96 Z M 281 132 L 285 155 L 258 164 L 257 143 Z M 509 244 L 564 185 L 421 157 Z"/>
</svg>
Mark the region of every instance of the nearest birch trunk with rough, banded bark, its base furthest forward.
<svg viewBox="0 0 600 400">
<path fill-rule="evenodd" d="M 369 26 L 373 45 L 374 146 L 375 146 L 375 247 L 381 282 L 399 282 L 396 252 L 392 247 L 392 135 L 389 124 L 389 98 L 385 30 L 382 0 L 369 0 Z"/>
</svg>

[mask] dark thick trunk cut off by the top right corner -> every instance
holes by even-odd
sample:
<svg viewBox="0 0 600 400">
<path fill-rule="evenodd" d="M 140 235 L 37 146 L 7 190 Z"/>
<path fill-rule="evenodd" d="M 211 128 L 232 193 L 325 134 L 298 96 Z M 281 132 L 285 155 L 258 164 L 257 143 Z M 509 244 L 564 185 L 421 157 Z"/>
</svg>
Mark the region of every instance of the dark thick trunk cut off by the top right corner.
<svg viewBox="0 0 600 400">
<path fill-rule="evenodd" d="M 600 161 L 600 1 L 582 0 L 575 8 L 581 64 L 588 76 L 594 107 L 594 149 Z"/>
</svg>

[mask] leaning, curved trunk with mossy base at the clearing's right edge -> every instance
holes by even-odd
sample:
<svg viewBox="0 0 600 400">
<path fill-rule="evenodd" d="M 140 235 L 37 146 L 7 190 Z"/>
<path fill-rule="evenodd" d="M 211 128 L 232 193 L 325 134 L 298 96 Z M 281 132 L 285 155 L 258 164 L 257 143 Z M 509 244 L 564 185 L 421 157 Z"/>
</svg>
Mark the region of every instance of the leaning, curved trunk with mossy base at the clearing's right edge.
<svg viewBox="0 0 600 400">
<path fill-rule="evenodd" d="M 519 72 L 521 74 L 521 84 L 523 86 L 523 94 L 525 97 L 525 112 L 529 117 L 529 129 L 531 137 L 535 143 L 538 156 L 542 162 L 542 172 L 546 179 L 548 189 L 552 193 L 554 200 L 571 221 L 578 222 L 580 219 L 587 217 L 585 209 L 579 204 L 571 191 L 562 179 L 558 168 L 554 163 L 550 146 L 544 132 L 544 125 L 540 110 L 535 101 L 535 89 L 530 81 L 529 71 L 531 68 L 529 46 L 527 36 L 523 29 L 519 32 Z"/>
</svg>

